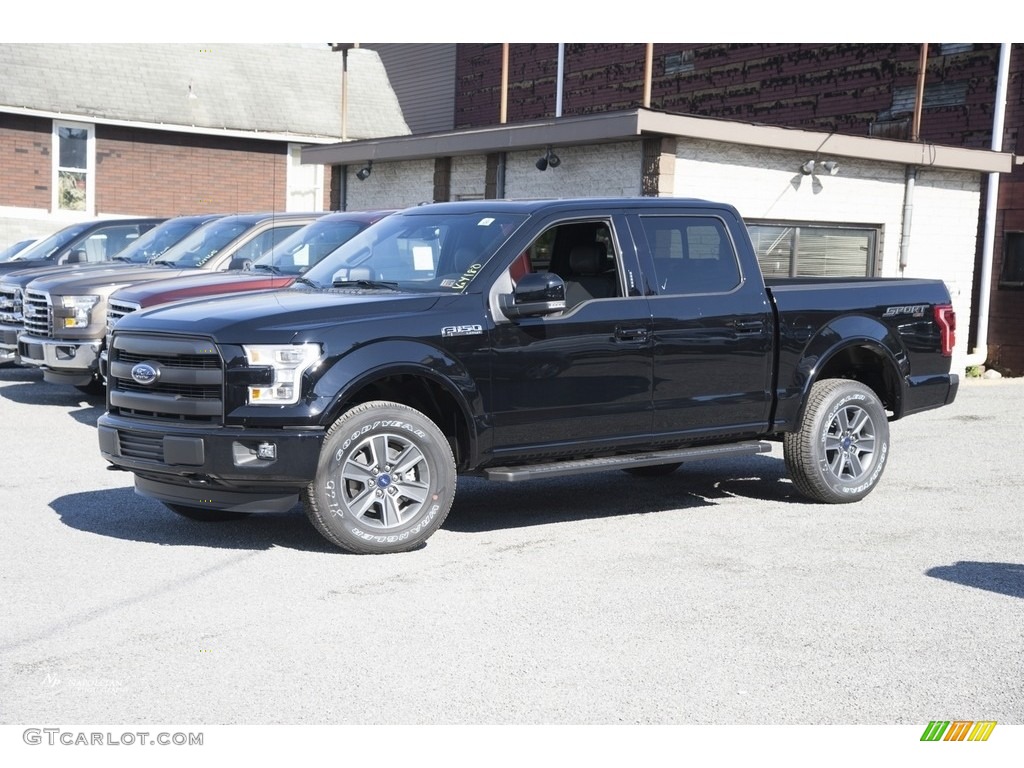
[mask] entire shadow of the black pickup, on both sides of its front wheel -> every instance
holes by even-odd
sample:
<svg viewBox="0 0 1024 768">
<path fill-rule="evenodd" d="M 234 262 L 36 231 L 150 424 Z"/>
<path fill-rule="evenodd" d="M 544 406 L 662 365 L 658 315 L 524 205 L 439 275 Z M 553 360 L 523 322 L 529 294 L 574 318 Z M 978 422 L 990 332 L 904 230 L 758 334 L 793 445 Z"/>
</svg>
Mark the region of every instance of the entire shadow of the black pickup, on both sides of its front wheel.
<svg viewBox="0 0 1024 768">
<path fill-rule="evenodd" d="M 548 523 L 714 507 L 730 498 L 805 503 L 785 477 L 781 460 L 752 457 L 699 462 L 657 478 L 600 472 L 504 484 L 459 479 L 443 530 L 476 534 Z M 163 546 L 345 554 L 323 539 L 301 506 L 228 522 L 198 522 L 174 514 L 131 487 L 69 494 L 50 502 L 60 521 L 112 539 Z"/>
</svg>

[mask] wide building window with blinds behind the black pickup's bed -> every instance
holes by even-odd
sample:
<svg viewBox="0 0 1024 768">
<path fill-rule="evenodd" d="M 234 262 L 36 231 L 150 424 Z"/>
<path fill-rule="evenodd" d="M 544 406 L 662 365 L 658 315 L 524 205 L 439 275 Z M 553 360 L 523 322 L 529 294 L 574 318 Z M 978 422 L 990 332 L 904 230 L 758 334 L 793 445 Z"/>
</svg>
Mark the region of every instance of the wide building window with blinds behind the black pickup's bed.
<svg viewBox="0 0 1024 768">
<path fill-rule="evenodd" d="M 765 278 L 864 278 L 874 272 L 879 230 L 820 224 L 751 223 Z"/>
</svg>

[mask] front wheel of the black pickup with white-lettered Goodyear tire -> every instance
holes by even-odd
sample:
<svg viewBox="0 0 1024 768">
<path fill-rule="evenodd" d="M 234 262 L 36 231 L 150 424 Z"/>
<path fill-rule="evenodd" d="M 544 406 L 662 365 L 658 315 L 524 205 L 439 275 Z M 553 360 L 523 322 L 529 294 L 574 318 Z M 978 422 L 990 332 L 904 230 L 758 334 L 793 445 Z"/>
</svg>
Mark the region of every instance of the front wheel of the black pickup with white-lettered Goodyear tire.
<svg viewBox="0 0 1024 768">
<path fill-rule="evenodd" d="M 444 522 L 455 489 L 452 447 L 436 425 L 408 406 L 373 400 L 328 430 L 303 502 L 326 539 L 381 554 L 426 542 Z"/>
</svg>

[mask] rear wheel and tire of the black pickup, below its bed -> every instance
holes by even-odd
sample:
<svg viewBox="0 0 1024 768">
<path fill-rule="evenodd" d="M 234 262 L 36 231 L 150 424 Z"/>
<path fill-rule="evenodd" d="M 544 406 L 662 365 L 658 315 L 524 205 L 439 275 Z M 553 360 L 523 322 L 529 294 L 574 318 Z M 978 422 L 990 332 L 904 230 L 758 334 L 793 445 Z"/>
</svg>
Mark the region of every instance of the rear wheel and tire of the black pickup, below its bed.
<svg viewBox="0 0 1024 768">
<path fill-rule="evenodd" d="M 783 437 L 785 466 L 797 489 L 817 502 L 863 499 L 889 458 L 889 419 L 860 382 L 825 379 L 811 387 L 804 423 Z"/>
</svg>

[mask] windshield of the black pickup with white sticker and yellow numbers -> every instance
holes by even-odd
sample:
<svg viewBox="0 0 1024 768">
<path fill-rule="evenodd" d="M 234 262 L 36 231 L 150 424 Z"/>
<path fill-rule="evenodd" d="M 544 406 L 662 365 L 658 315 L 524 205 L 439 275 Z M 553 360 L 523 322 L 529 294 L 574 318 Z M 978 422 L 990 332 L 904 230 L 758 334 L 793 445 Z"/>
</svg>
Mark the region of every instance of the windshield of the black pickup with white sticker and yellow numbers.
<svg viewBox="0 0 1024 768">
<path fill-rule="evenodd" d="M 525 220 L 509 213 L 392 214 L 305 273 L 318 286 L 463 291 Z"/>
</svg>

